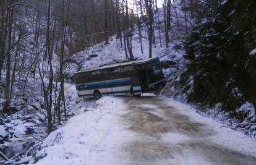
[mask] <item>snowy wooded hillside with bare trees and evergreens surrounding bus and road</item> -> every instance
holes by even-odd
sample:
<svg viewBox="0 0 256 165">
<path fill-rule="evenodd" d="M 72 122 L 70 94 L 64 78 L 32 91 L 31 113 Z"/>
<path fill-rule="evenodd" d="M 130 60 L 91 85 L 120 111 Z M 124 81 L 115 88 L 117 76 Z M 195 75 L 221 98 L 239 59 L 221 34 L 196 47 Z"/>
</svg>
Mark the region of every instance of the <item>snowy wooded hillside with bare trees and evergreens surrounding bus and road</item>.
<svg viewBox="0 0 256 165">
<path fill-rule="evenodd" d="M 255 0 L 1 0 L 1 163 L 36 163 L 44 157 L 36 154 L 43 139 L 94 103 L 70 90 L 74 72 L 151 57 L 160 58 L 168 79 L 161 96 L 255 137 L 255 6 Z"/>
</svg>

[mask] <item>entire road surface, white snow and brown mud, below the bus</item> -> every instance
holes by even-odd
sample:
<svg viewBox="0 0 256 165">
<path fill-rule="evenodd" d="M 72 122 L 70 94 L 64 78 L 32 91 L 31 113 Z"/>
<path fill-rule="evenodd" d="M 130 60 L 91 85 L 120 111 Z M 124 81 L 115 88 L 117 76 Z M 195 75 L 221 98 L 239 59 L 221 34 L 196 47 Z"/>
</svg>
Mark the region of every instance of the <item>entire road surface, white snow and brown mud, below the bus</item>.
<svg viewBox="0 0 256 165">
<path fill-rule="evenodd" d="M 254 138 L 173 99 L 103 97 L 96 104 L 52 132 L 36 164 L 256 164 Z"/>
</svg>

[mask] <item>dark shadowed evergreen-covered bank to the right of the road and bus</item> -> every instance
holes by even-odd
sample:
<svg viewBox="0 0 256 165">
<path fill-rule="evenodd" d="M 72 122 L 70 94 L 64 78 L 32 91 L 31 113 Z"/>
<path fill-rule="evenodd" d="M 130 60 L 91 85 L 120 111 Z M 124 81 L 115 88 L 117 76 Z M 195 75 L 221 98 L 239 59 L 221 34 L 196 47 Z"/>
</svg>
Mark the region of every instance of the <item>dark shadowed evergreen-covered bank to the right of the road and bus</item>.
<svg viewBox="0 0 256 165">
<path fill-rule="evenodd" d="M 216 106 L 254 127 L 256 109 L 256 1 L 227 0 L 194 28 L 186 43 L 186 69 L 180 76 L 190 103 Z M 250 108 L 249 108 L 250 109 Z"/>
</svg>

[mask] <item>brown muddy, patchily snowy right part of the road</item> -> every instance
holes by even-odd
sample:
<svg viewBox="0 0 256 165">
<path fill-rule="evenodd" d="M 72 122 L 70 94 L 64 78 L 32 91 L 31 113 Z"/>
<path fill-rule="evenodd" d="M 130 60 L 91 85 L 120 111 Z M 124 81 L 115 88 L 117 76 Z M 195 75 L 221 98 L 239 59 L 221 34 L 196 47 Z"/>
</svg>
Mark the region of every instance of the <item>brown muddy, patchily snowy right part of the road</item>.
<svg viewBox="0 0 256 165">
<path fill-rule="evenodd" d="M 256 164 L 255 141 L 250 146 L 232 130 L 221 133 L 214 122 L 200 121 L 198 114 L 193 119 L 186 109 L 162 99 L 126 99 L 124 119 L 138 133 L 125 146 L 133 164 Z M 252 153 L 246 153 L 247 147 Z"/>
</svg>

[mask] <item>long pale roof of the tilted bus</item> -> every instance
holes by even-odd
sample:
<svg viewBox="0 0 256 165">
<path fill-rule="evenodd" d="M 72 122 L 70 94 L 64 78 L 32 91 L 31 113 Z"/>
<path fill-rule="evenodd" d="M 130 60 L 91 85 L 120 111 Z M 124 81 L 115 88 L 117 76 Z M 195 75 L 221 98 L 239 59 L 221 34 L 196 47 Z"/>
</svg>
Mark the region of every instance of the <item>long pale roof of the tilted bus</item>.
<svg viewBox="0 0 256 165">
<path fill-rule="evenodd" d="M 144 64 L 144 63 L 147 63 L 147 62 L 150 62 L 150 61 L 154 61 L 155 59 L 159 59 L 159 58 L 158 57 L 152 57 L 152 58 L 149 58 L 149 59 L 141 59 L 141 60 L 138 60 L 138 61 L 129 61 L 129 62 L 111 64 L 111 65 L 106 65 L 106 66 L 101 66 L 101 67 L 95 66 L 95 67 L 90 67 L 90 68 L 87 68 L 87 69 L 80 70 L 78 72 L 75 72 L 74 74 L 79 74 L 79 73 L 83 73 L 83 72 L 90 72 L 90 71 L 93 71 L 93 70 L 108 69 L 108 68 L 111 68 L 111 67 L 128 66 L 128 65 L 131 65 L 131 64 Z"/>
</svg>

